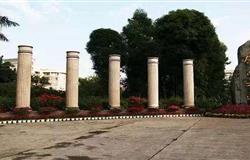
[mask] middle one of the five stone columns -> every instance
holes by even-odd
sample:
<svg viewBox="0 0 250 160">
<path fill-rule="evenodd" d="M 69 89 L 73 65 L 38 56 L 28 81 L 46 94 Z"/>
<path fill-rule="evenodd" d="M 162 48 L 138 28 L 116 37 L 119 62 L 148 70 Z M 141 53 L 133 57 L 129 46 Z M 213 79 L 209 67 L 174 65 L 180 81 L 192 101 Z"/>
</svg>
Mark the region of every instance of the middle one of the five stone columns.
<svg viewBox="0 0 250 160">
<path fill-rule="evenodd" d="M 109 56 L 109 105 L 120 108 L 120 55 Z"/>
</svg>

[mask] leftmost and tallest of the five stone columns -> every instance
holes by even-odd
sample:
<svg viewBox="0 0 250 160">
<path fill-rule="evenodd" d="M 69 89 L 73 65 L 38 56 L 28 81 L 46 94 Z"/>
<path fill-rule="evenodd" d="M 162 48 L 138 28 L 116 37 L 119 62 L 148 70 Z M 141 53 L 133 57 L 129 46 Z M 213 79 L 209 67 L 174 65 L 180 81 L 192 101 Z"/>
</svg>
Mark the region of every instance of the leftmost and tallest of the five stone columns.
<svg viewBox="0 0 250 160">
<path fill-rule="evenodd" d="M 17 65 L 17 86 L 16 86 L 16 108 L 30 108 L 31 90 L 31 69 L 32 69 L 32 46 L 18 46 L 18 65 Z"/>
</svg>

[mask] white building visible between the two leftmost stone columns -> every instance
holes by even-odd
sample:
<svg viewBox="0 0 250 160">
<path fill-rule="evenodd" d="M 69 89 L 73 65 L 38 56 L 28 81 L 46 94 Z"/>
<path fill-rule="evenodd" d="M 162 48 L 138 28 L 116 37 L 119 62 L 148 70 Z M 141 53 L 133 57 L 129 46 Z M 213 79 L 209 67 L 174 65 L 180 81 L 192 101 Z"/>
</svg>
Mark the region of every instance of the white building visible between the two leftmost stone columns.
<svg viewBox="0 0 250 160">
<path fill-rule="evenodd" d="M 49 69 L 39 69 L 35 70 L 34 74 L 39 75 L 40 77 L 47 77 L 49 79 L 49 85 L 46 85 L 45 88 L 53 88 L 55 90 L 65 91 L 66 85 L 66 73 L 59 72 Z"/>
</svg>

